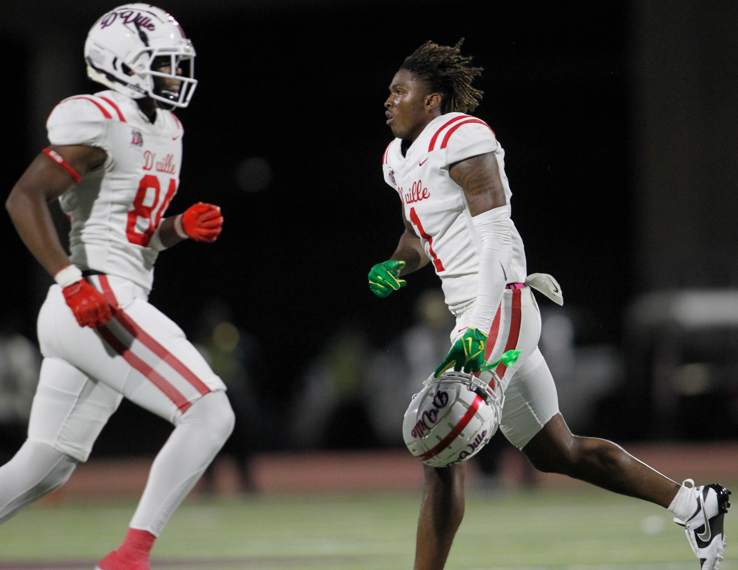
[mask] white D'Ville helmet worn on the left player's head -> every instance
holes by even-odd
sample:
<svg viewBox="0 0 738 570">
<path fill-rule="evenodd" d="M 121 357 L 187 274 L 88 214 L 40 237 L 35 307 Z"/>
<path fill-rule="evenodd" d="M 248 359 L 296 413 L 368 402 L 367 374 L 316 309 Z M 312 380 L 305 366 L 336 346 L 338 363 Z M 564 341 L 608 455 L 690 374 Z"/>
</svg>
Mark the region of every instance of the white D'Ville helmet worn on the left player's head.
<svg viewBox="0 0 738 570">
<path fill-rule="evenodd" d="M 152 69 L 156 58 L 167 58 L 170 73 Z M 187 107 L 197 86 L 192 42 L 172 16 L 151 4 L 124 4 L 97 20 L 85 61 L 90 79 L 134 99 L 151 97 L 164 108 Z M 179 80 L 179 91 L 161 90 L 155 77 Z"/>
</svg>

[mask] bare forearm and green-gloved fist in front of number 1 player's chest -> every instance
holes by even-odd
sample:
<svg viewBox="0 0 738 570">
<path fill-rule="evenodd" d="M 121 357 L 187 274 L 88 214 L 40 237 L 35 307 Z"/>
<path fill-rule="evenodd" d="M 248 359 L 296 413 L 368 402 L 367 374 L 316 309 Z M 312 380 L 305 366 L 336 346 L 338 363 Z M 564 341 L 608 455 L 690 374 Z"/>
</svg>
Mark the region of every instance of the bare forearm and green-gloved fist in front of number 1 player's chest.
<svg viewBox="0 0 738 570">
<path fill-rule="evenodd" d="M 398 279 L 400 275 L 407 275 L 427 265 L 430 261 L 423 250 L 420 237 L 405 218 L 402 209 L 402 221 L 405 231 L 400 236 L 395 253 L 384 263 L 377 263 L 369 272 L 369 288 L 376 296 L 386 297 L 393 291 L 404 287 L 407 282 Z"/>
</svg>

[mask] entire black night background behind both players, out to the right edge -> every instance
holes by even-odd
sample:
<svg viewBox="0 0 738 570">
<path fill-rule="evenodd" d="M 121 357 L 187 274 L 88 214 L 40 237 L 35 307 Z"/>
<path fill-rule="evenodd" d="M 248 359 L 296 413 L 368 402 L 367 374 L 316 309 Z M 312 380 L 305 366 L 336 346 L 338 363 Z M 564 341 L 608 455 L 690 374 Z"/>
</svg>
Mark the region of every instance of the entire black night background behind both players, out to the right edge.
<svg viewBox="0 0 738 570">
<path fill-rule="evenodd" d="M 0 10 L 0 47 L 13 56 L 0 94 L 12 110 L 0 170 L 6 195 L 44 146 L 55 102 L 100 90 L 86 80 L 82 48 L 89 27 L 114 5 L 32 0 Z M 363 329 L 383 347 L 413 322 L 418 295 L 439 285 L 430 266 L 387 299 L 373 296 L 366 280 L 402 231 L 399 201 L 380 168 L 391 139 L 382 103 L 403 58 L 429 39 L 466 38 L 462 52 L 485 69 L 474 114 L 506 150 L 528 272 L 559 280 L 578 344 L 630 350 L 627 307 L 643 293 L 738 285 L 736 4 L 182 0 L 161 7 L 193 40 L 200 81 L 190 108 L 178 111 L 184 164 L 169 213 L 209 201 L 226 221 L 215 245 L 185 243 L 159 257 L 151 302 L 190 336 L 207 302 L 230 305 L 258 344 L 256 389 L 272 417 L 338 330 Z M 31 21 L 30 13 L 43 18 Z M 70 54 L 59 64 L 57 47 Z M 249 157 L 272 166 L 262 192 L 238 187 L 238 164 Z M 0 215 L 6 313 L 33 338 L 50 281 Z M 539 305 L 553 306 L 542 297 Z M 649 361 L 630 364 L 629 383 L 645 386 Z M 648 404 L 635 400 L 610 400 L 611 419 L 623 414 L 615 417 L 623 429 L 613 433 L 644 436 L 632 425 Z M 126 452 L 130 444 L 109 439 L 123 423 L 150 436 L 166 431 L 123 406 L 95 453 Z M 148 451 L 163 437 L 148 437 Z"/>
</svg>

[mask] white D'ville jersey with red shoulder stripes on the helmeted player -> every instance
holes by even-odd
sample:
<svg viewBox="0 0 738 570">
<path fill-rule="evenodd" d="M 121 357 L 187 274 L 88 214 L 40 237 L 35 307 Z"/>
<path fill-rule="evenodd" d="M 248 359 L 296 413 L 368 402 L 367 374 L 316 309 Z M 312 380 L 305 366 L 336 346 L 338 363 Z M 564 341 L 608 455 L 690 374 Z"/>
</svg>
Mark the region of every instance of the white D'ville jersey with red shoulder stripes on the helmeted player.
<svg viewBox="0 0 738 570">
<path fill-rule="evenodd" d="M 149 243 L 179 188 L 182 123 L 157 109 L 152 124 L 130 97 L 100 91 L 63 100 L 46 128 L 52 145 L 91 145 L 108 153 L 103 166 L 59 198 L 72 223 L 72 263 L 151 291 L 159 251 Z"/>
</svg>

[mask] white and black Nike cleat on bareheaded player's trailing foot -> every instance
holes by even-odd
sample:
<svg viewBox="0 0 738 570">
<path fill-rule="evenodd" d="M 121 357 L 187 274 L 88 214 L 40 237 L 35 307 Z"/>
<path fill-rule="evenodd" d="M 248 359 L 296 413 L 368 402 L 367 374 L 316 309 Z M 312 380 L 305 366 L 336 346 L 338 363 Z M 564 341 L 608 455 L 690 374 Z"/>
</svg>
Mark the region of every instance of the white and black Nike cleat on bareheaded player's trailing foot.
<svg viewBox="0 0 738 570">
<path fill-rule="evenodd" d="M 728 502 L 731 492 L 717 483 L 693 489 L 697 510 L 689 520 L 675 517 L 674 522 L 684 527 L 689 546 L 700 559 L 701 570 L 719 570 L 725 546 L 723 519 L 731 506 Z"/>
</svg>

